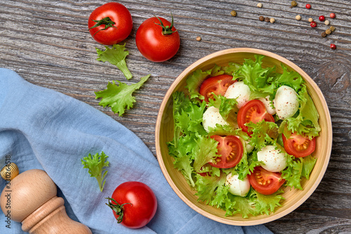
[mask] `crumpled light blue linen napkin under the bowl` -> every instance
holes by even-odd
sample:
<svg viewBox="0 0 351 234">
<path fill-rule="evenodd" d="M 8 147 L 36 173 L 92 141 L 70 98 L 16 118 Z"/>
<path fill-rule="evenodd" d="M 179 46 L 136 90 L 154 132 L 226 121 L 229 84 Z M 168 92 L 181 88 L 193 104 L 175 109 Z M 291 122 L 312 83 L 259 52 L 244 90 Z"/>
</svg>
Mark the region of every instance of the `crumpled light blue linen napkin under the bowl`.
<svg viewBox="0 0 351 234">
<path fill-rule="evenodd" d="M 81 165 L 88 153 L 105 152 L 110 167 L 103 192 Z M 44 169 L 65 198 L 67 214 L 93 233 L 271 233 L 265 226 L 218 223 L 194 212 L 173 192 L 152 152 L 135 134 L 79 100 L 26 82 L 0 68 L 0 166 L 6 155 L 21 171 Z M 118 224 L 105 198 L 125 181 L 154 191 L 158 208 L 144 228 Z M 0 189 L 5 186 L 1 179 Z M 1 212 L 1 211 L 0 211 Z M 0 233 L 22 233 L 21 224 L 0 213 Z"/>
</svg>

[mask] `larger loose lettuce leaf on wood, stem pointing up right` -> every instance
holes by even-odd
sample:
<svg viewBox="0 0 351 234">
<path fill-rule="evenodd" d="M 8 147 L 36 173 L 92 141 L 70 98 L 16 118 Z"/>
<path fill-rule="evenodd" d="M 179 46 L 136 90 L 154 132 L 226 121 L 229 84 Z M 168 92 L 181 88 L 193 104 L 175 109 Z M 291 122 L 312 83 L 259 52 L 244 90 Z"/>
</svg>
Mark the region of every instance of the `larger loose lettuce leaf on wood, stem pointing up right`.
<svg viewBox="0 0 351 234">
<path fill-rule="evenodd" d="M 118 80 L 116 82 L 119 82 L 119 85 L 114 81 L 112 83 L 109 82 L 107 89 L 95 92 L 95 99 L 102 98 L 99 105 L 102 105 L 104 108 L 105 106 L 109 106 L 115 114 L 118 113 L 121 116 L 126 109 L 133 108 L 133 103 L 135 103 L 135 98 L 132 96 L 133 92 L 140 89 L 149 77 L 150 74 L 142 77 L 140 82 L 131 85 L 119 82 Z"/>
</svg>

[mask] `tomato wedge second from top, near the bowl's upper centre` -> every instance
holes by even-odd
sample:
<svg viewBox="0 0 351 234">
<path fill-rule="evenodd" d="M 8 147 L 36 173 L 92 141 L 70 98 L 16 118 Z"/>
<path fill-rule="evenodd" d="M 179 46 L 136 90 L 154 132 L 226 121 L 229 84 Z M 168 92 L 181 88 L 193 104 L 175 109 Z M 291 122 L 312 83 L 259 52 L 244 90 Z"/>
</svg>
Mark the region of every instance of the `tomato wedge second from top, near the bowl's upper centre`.
<svg viewBox="0 0 351 234">
<path fill-rule="evenodd" d="M 250 100 L 239 109 L 237 117 L 239 127 L 246 133 L 249 133 L 245 126 L 246 123 L 258 123 L 263 119 L 267 122 L 274 122 L 274 117 L 267 112 L 265 104 L 260 100 Z"/>
</svg>

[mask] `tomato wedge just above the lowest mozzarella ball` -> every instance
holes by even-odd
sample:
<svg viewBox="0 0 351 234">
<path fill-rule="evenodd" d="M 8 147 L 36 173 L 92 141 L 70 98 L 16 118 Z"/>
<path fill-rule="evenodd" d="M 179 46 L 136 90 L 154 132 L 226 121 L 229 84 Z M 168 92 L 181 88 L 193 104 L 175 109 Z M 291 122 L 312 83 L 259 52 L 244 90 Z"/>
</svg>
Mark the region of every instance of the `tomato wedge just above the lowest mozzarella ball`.
<svg viewBox="0 0 351 234">
<path fill-rule="evenodd" d="M 212 167 L 230 168 L 235 167 L 240 162 L 244 153 L 244 147 L 236 136 L 218 136 L 214 135 L 211 138 L 218 141 L 216 164 L 209 162 Z"/>
</svg>

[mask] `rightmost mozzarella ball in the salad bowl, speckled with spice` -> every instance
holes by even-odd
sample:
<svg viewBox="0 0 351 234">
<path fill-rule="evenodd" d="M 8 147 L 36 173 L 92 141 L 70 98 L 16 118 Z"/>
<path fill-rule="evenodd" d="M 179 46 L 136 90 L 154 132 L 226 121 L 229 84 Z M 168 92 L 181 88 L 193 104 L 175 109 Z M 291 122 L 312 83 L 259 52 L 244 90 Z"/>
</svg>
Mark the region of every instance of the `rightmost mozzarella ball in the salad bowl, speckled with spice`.
<svg viewBox="0 0 351 234">
<path fill-rule="evenodd" d="M 289 86 L 281 86 L 274 99 L 275 110 L 279 119 L 286 119 L 298 111 L 298 93 Z"/>
</svg>

